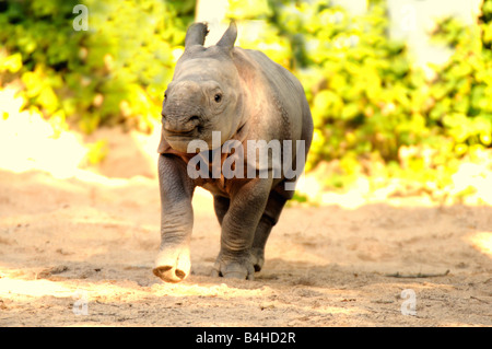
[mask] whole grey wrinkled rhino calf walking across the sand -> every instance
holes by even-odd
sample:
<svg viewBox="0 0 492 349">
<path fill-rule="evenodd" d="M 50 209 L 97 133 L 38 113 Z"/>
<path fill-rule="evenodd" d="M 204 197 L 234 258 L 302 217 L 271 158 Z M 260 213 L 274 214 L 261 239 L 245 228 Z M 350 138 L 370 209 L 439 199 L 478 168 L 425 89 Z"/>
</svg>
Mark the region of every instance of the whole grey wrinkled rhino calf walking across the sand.
<svg viewBox="0 0 492 349">
<path fill-rule="evenodd" d="M 209 48 L 203 47 L 207 33 L 204 23 L 189 27 L 162 109 L 162 243 L 153 272 L 169 282 L 179 282 L 190 272 L 196 186 L 212 193 L 222 230 L 212 274 L 251 280 L 263 265 L 270 231 L 293 196 L 284 183 L 295 182 L 273 178 L 271 171 L 268 178 L 191 179 L 187 163 L 196 154 L 187 153 L 189 141 L 200 139 L 211 147 L 212 131 L 221 131 L 222 143 L 239 140 L 245 150 L 247 140 L 293 140 L 294 144 L 304 140 L 306 155 L 313 136 L 309 107 L 294 75 L 260 51 L 234 47 L 234 23 Z M 292 151 L 295 159 L 295 148 Z"/>
</svg>

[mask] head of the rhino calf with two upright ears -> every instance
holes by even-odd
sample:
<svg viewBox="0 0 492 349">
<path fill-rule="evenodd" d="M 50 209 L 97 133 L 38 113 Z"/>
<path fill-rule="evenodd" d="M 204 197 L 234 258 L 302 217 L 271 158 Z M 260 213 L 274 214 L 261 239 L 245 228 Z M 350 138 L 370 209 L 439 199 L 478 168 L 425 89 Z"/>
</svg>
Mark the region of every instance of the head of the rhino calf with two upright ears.
<svg viewBox="0 0 492 349">
<path fill-rule="evenodd" d="M 237 131 L 242 123 L 239 74 L 232 59 L 237 28 L 234 22 L 216 45 L 203 47 L 208 28 L 192 24 L 185 39 L 164 95 L 163 136 L 169 146 L 187 152 L 191 140 L 203 140 L 212 149 L 212 131 L 221 132 L 221 144 Z"/>
</svg>

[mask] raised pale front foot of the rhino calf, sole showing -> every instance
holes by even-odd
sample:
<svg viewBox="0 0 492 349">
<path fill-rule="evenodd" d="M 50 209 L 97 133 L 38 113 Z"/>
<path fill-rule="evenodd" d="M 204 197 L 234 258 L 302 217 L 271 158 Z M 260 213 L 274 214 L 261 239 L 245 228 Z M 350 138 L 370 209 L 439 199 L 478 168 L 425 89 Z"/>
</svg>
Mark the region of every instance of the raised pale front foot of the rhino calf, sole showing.
<svg viewBox="0 0 492 349">
<path fill-rule="evenodd" d="M 155 259 L 154 275 L 167 282 L 180 282 L 189 275 L 189 248 L 163 248 Z"/>
</svg>

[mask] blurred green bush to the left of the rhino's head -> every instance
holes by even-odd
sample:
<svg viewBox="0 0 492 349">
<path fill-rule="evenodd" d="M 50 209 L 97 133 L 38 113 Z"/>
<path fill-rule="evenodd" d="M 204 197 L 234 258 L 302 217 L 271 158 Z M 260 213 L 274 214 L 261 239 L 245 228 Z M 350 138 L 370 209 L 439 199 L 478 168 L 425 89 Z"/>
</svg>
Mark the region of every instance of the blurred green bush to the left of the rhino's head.
<svg viewBox="0 0 492 349">
<path fill-rule="evenodd" d="M 89 9 L 89 31 L 75 31 Z M 159 117 L 195 1 L 21 1 L 0 4 L 0 75 L 20 79 L 47 117 L 149 129 Z M 10 75 L 7 75 L 10 73 Z"/>
</svg>

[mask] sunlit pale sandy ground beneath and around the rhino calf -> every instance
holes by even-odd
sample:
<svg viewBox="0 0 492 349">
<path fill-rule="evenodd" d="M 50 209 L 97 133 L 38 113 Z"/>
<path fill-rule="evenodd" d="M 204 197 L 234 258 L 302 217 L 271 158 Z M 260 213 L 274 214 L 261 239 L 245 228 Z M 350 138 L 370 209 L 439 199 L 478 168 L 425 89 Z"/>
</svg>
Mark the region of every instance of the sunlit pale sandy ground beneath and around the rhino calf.
<svg viewBox="0 0 492 349">
<path fill-rule="evenodd" d="M 160 199 L 142 144 L 155 138 L 99 136 L 98 174 L 0 170 L 0 326 L 492 325 L 490 205 L 291 206 L 263 270 L 241 281 L 209 276 L 220 228 L 198 190 L 192 274 L 169 284 L 151 271 Z"/>
</svg>

